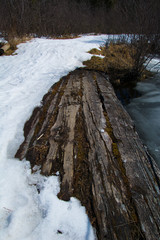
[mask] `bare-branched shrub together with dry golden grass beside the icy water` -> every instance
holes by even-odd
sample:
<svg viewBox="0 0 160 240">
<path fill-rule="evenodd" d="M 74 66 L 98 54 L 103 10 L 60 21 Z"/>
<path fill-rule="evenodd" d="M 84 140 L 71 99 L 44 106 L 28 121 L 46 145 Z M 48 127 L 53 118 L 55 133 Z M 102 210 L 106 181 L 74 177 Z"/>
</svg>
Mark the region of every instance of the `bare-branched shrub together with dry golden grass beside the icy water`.
<svg viewBox="0 0 160 240">
<path fill-rule="evenodd" d="M 141 80 L 149 74 L 146 67 L 155 56 L 157 39 L 157 35 L 156 40 L 153 35 L 121 35 L 114 41 L 107 41 L 106 47 L 101 50 L 92 49 L 91 54 L 105 57 L 93 56 L 84 65 L 107 73 L 113 84 Z"/>
</svg>

